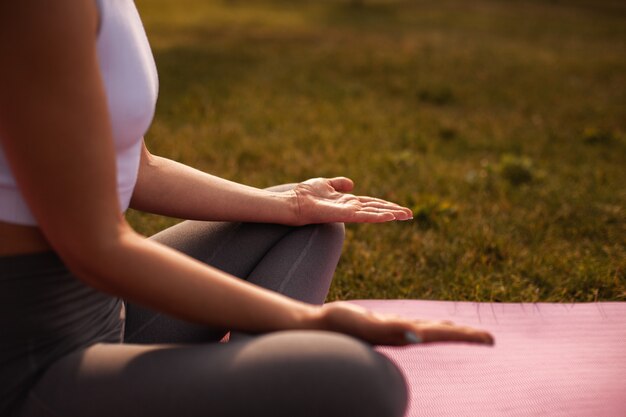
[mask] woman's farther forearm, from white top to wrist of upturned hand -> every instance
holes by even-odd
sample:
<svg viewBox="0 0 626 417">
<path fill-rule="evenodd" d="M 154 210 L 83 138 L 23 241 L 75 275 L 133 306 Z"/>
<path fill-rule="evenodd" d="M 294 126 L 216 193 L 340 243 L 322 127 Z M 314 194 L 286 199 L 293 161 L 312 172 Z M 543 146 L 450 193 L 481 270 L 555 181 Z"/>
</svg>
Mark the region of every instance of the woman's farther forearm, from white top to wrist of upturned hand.
<svg viewBox="0 0 626 417">
<path fill-rule="evenodd" d="M 144 148 L 131 207 L 194 220 L 293 224 L 297 202 L 277 193 L 206 174 Z"/>
</svg>

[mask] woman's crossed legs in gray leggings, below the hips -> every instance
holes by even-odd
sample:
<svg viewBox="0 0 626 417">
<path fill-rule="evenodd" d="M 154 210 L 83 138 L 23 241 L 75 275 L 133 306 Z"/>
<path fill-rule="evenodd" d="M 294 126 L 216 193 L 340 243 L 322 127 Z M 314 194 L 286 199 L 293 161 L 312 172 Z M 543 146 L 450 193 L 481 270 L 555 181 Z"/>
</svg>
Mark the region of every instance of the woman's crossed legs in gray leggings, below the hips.
<svg viewBox="0 0 626 417">
<path fill-rule="evenodd" d="M 343 225 L 186 221 L 153 239 L 260 286 L 321 304 Z M 353 338 L 318 331 L 235 337 L 127 305 L 124 343 L 54 362 L 21 417 L 399 417 L 398 369 Z"/>
</svg>

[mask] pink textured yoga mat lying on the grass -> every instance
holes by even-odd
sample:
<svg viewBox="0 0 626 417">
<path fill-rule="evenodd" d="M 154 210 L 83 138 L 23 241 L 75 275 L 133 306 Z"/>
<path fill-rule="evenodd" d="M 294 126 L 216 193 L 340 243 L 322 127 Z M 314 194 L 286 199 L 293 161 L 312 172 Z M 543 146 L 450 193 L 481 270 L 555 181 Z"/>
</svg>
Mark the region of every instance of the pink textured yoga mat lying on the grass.
<svg viewBox="0 0 626 417">
<path fill-rule="evenodd" d="M 493 348 L 376 348 L 405 375 L 407 417 L 626 417 L 626 303 L 351 302 L 480 326 L 496 338 Z"/>
</svg>

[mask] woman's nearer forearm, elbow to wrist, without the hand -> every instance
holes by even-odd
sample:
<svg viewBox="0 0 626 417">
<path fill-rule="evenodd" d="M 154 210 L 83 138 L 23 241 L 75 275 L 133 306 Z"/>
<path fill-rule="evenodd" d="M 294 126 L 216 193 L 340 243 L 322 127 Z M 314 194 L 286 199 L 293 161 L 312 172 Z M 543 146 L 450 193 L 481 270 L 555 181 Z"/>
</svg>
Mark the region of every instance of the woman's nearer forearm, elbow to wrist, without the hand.
<svg viewBox="0 0 626 417">
<path fill-rule="evenodd" d="M 66 257 L 81 279 L 157 311 L 249 332 L 317 326 L 316 307 L 211 268 L 130 228 L 116 242 L 88 251 L 96 253 Z M 90 257 L 106 261 L 88 261 Z"/>
</svg>

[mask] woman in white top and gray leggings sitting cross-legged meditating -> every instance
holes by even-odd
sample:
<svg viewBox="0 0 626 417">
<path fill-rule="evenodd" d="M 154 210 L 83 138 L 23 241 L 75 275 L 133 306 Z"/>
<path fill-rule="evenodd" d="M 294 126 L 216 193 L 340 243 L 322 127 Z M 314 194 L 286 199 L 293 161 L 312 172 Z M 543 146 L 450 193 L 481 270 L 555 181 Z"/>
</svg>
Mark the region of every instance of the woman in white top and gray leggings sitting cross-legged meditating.
<svg viewBox="0 0 626 417">
<path fill-rule="evenodd" d="M 131 0 L 2 2 L 0 57 L 3 416 L 400 416 L 400 373 L 362 341 L 493 343 L 320 306 L 340 223 L 408 209 L 343 177 L 258 190 L 151 155 Z M 145 239 L 129 206 L 195 221 Z"/>
</svg>

